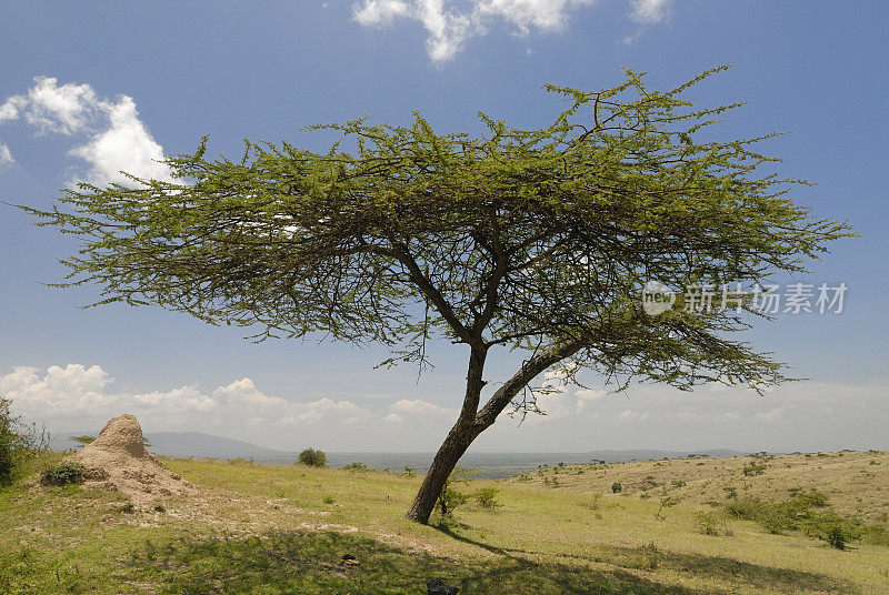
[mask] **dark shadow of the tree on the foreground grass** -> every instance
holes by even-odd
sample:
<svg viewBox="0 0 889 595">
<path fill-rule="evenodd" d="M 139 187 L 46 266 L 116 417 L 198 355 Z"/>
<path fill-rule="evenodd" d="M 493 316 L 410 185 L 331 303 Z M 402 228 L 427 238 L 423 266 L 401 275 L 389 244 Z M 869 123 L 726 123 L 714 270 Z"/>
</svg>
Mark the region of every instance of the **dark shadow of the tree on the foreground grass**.
<svg viewBox="0 0 889 595">
<path fill-rule="evenodd" d="M 158 585 L 158 593 L 171 594 L 417 595 L 424 592 L 429 578 L 438 577 L 460 587 L 461 595 L 726 595 L 716 588 L 665 585 L 620 568 L 535 562 L 486 548 L 498 555 L 455 561 L 342 533 L 180 538 L 146 542 L 120 572 L 130 581 L 150 581 Z M 342 565 L 346 554 L 358 558 L 360 566 Z"/>
</svg>

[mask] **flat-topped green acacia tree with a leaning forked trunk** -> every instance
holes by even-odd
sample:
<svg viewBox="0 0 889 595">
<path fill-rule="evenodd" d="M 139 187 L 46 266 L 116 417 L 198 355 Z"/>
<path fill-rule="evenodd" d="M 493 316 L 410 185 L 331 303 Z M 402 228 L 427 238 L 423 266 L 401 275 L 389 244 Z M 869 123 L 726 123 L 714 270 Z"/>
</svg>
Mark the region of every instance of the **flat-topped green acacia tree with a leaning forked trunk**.
<svg viewBox="0 0 889 595">
<path fill-rule="evenodd" d="M 617 389 L 787 380 L 733 339 L 756 314 L 748 302 L 650 316 L 639 299 L 648 280 L 802 271 L 847 234 L 789 200 L 792 181 L 760 173 L 777 161 L 752 149 L 768 137 L 701 140 L 739 104 L 696 108 L 682 93 L 719 70 L 666 92 L 629 70 L 596 92 L 547 85 L 567 109 L 537 130 L 480 114 L 478 137 L 438 134 L 416 113 L 409 127 L 314 127 L 341 135 L 326 153 L 248 141 L 237 162 L 207 159 L 204 138 L 166 160 L 178 182 L 81 184 L 30 210 L 83 240 L 60 285 L 97 283 L 98 303 L 157 304 L 258 340 L 381 343 L 388 363 L 422 366 L 436 339 L 463 345 L 460 413 L 408 513 L 426 523 L 472 441 L 510 404 L 537 410 L 546 371 L 577 382 L 589 369 Z M 517 370 L 486 391 L 495 349 Z"/>
</svg>

